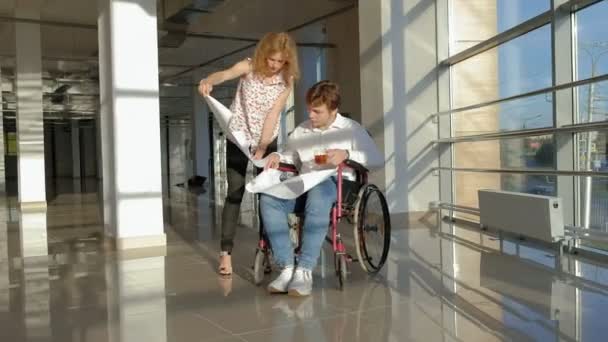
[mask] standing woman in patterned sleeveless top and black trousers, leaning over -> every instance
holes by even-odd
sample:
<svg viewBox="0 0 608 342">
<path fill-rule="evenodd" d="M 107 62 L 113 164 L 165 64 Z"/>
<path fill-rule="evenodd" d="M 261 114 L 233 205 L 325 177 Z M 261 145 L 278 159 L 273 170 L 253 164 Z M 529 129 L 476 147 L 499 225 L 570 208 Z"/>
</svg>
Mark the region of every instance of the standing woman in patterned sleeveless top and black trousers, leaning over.
<svg viewBox="0 0 608 342">
<path fill-rule="evenodd" d="M 213 73 L 202 79 L 198 91 L 202 96 L 211 93 L 213 86 L 240 77 L 230 110 L 231 131 L 244 132 L 251 142 L 253 159 L 262 159 L 277 149 L 279 117 L 294 81 L 300 77 L 296 44 L 284 32 L 267 33 L 258 43 L 253 59 L 247 58 L 230 69 Z M 230 254 L 238 223 L 241 201 L 245 191 L 245 172 L 249 160 L 228 141 L 226 165 L 228 195 L 222 212 L 220 275 L 232 274 Z"/>
</svg>

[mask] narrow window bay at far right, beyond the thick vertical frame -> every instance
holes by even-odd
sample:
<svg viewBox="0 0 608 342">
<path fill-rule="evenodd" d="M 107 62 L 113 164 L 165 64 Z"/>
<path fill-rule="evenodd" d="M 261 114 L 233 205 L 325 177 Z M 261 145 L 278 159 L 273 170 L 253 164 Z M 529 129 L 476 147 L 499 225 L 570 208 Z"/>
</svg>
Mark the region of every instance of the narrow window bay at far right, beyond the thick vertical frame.
<svg viewBox="0 0 608 342">
<path fill-rule="evenodd" d="M 608 74 L 608 1 L 600 1 L 574 14 L 576 79 L 585 80 Z M 577 87 L 578 123 L 608 120 L 608 81 Z M 608 130 L 578 133 L 576 161 L 578 170 L 607 172 Z M 580 225 L 608 233 L 608 178 L 577 177 Z M 582 245 L 608 250 L 606 243 L 582 241 Z"/>
</svg>

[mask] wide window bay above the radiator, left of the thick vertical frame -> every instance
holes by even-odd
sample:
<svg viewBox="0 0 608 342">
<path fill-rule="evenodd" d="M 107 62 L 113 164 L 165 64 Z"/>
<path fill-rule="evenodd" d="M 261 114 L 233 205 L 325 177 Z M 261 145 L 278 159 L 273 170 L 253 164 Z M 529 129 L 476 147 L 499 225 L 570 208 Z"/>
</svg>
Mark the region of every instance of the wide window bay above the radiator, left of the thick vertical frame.
<svg viewBox="0 0 608 342">
<path fill-rule="evenodd" d="M 453 1 L 453 47 L 463 41 L 468 15 L 474 20 L 469 37 L 488 39 L 549 9 L 548 1 Z M 482 14 L 485 14 L 485 19 Z M 464 17 L 463 17 L 464 16 Z M 458 17 L 458 19 L 455 19 Z M 465 25 L 466 26 L 466 25 Z M 468 27 L 468 26 L 467 26 Z M 479 41 L 476 41 L 479 43 Z M 467 46 L 470 47 L 470 46 Z M 551 26 L 543 25 L 495 48 L 481 51 L 451 67 L 452 108 L 474 106 L 452 115 L 452 137 L 475 137 L 553 126 L 553 94 L 496 101 L 551 87 Z M 502 174 L 501 169 L 555 168 L 552 136 L 459 142 L 453 145 L 455 204 L 478 207 L 477 190 L 501 189 L 545 195 L 556 194 L 554 176 Z M 465 169 L 465 170 L 462 170 Z M 489 172 L 466 169 L 488 169 Z M 492 171 L 494 170 L 494 171 Z M 467 218 L 471 218 L 467 216 Z"/>
</svg>

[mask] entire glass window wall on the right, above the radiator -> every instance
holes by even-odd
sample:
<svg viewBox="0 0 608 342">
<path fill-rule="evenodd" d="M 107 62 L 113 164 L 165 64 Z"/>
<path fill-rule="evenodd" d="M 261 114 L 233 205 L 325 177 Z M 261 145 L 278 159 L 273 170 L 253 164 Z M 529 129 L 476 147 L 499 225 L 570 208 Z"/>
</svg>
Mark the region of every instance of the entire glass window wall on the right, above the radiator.
<svg viewBox="0 0 608 342">
<path fill-rule="evenodd" d="M 608 237 L 608 0 L 551 4 L 450 0 L 452 200 L 478 207 L 482 188 L 560 196 L 569 223 Z"/>
</svg>

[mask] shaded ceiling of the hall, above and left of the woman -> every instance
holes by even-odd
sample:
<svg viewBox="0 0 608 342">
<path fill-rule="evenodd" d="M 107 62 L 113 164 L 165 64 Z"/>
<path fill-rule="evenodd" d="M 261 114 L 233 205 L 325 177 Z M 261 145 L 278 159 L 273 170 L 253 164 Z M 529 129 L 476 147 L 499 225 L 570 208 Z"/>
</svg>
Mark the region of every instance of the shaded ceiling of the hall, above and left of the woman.
<svg viewBox="0 0 608 342">
<path fill-rule="evenodd" d="M 187 0 L 159 0 L 159 8 L 163 1 L 188 3 Z M 354 0 L 226 0 L 216 7 L 213 13 L 199 16 L 198 21 L 190 25 L 188 31 L 258 39 L 266 32 L 287 30 L 355 2 Z M 97 24 L 97 0 L 0 0 L 0 17 L 14 17 L 15 3 L 30 3 L 30 5 L 39 3 L 41 20 L 91 26 Z M 293 32 L 293 35 L 299 42 L 320 43 L 324 39 L 321 33 L 322 27 L 323 23 L 319 22 L 299 29 Z M 159 38 L 163 34 L 159 31 Z M 41 40 L 43 69 L 46 76 L 95 78 L 98 70 L 95 28 L 42 25 Z M 3 67 L 3 72 L 10 74 L 15 54 L 13 22 L 0 20 L 0 42 L 2 42 L 0 65 Z M 159 49 L 159 76 L 163 80 L 167 76 L 188 70 L 191 66 L 216 59 L 250 44 L 234 40 L 187 38 L 179 48 Z M 251 51 L 231 55 L 197 72 L 208 73 L 230 65 L 249 54 Z M 171 79 L 171 82 L 187 85 L 192 84 L 193 81 L 191 74 L 186 74 Z M 190 96 L 188 92 L 191 92 L 191 89 L 192 87 L 185 87 L 185 90 L 180 87 L 161 89 L 161 112 L 174 114 L 190 112 L 192 101 L 188 99 Z M 78 89 L 74 88 L 72 91 L 78 92 Z M 88 93 L 91 91 L 95 92 L 96 89 L 90 89 Z M 96 106 L 96 101 L 89 103 L 90 108 Z"/>
</svg>

